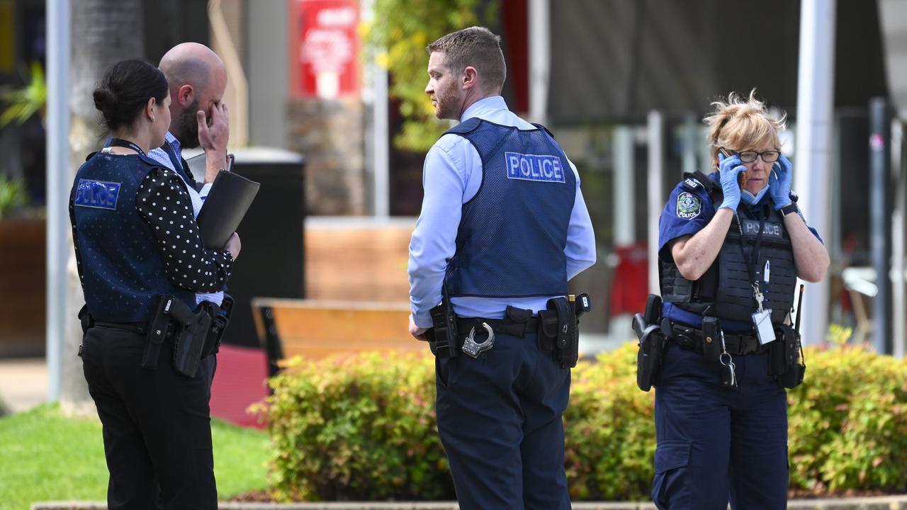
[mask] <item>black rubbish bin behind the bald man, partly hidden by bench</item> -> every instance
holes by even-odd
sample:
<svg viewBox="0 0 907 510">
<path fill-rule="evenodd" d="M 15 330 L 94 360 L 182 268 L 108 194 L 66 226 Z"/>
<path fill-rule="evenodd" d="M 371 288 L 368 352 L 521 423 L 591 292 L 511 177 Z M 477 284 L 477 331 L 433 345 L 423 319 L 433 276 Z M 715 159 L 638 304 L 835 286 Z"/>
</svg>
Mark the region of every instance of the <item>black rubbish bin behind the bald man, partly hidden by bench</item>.
<svg viewBox="0 0 907 510">
<path fill-rule="evenodd" d="M 223 342 L 258 348 L 249 301 L 259 296 L 305 298 L 305 159 L 263 147 L 233 153 L 233 171 L 261 187 L 237 230 L 242 249 L 227 284 L 235 303 Z"/>
</svg>

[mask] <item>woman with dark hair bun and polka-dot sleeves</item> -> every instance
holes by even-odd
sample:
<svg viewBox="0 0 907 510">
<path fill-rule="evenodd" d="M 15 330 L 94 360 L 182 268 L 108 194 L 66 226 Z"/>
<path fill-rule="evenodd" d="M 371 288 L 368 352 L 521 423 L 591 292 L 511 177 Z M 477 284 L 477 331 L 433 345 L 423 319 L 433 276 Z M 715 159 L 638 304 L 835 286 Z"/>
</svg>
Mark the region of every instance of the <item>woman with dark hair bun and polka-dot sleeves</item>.
<svg viewBox="0 0 907 510">
<path fill-rule="evenodd" d="M 239 237 L 224 250 L 204 249 L 185 184 L 146 155 L 170 126 L 161 71 L 138 60 L 114 64 L 93 97 L 112 139 L 76 173 L 69 211 L 108 507 L 214 509 L 208 375 L 178 373 L 169 341 L 156 358 L 146 345 L 160 296 L 195 309 L 195 292 L 223 289 Z"/>
</svg>

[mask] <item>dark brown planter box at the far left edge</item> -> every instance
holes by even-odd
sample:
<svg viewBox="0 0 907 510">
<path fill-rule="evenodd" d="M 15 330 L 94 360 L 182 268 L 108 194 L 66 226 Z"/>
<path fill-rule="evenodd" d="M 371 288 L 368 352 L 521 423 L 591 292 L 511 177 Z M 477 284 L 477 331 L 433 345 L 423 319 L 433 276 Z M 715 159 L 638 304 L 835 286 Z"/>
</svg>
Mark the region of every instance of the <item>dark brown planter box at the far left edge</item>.
<svg viewBox="0 0 907 510">
<path fill-rule="evenodd" d="M 43 357 L 46 221 L 0 221 L 0 358 Z"/>
</svg>

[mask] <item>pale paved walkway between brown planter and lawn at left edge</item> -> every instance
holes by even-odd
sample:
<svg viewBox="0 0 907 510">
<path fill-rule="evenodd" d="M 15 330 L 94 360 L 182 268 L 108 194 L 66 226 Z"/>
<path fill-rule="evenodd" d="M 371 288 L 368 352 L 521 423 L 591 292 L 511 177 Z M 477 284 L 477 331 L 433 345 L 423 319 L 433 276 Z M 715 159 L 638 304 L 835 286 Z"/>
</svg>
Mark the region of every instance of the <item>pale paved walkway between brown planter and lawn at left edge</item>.
<svg viewBox="0 0 907 510">
<path fill-rule="evenodd" d="M 0 400 L 14 413 L 47 401 L 44 358 L 0 358 Z"/>
</svg>

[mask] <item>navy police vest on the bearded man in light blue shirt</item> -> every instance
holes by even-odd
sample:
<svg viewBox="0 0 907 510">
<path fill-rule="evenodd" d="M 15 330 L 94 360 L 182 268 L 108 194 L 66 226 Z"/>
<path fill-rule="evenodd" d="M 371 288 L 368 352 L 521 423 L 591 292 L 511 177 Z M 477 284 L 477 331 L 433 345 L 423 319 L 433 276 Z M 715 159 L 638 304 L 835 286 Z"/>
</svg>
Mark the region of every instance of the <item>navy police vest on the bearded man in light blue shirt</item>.
<svg viewBox="0 0 907 510">
<path fill-rule="evenodd" d="M 520 130 L 479 118 L 449 133 L 482 158 L 482 185 L 463 204 L 445 282 L 452 296 L 522 298 L 567 293 L 567 227 L 576 176 L 543 127 Z"/>
</svg>

